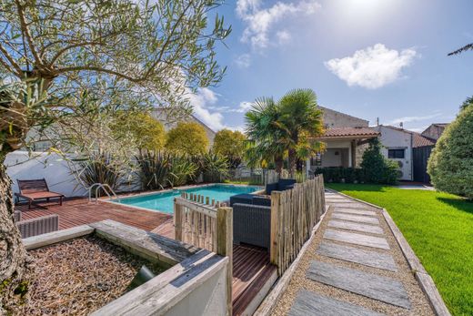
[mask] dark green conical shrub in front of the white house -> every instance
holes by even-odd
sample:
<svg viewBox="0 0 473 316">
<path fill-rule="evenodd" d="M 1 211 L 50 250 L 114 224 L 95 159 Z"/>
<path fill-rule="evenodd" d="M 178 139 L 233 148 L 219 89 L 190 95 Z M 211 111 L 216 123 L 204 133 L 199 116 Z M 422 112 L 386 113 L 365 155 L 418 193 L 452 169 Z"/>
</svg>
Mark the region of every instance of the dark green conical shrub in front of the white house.
<svg viewBox="0 0 473 316">
<path fill-rule="evenodd" d="M 394 184 L 398 180 L 398 164 L 384 158 L 381 154 L 379 139 L 372 138 L 369 147 L 363 153 L 360 167 L 367 183 Z"/>
</svg>

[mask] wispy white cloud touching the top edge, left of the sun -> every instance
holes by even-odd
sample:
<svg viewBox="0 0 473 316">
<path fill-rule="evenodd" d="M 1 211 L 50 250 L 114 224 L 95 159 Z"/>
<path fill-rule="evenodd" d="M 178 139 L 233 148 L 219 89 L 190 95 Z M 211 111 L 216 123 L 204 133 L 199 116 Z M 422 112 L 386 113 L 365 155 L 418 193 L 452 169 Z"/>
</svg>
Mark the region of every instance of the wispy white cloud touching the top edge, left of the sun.
<svg viewBox="0 0 473 316">
<path fill-rule="evenodd" d="M 303 0 L 297 4 L 277 2 L 263 9 L 261 0 L 237 0 L 237 15 L 246 23 L 241 40 L 251 44 L 253 48 L 266 48 L 270 43 L 270 32 L 277 22 L 289 15 L 313 15 L 320 7 L 316 0 Z M 287 31 L 279 31 L 276 42 L 284 44 L 289 38 Z"/>
</svg>

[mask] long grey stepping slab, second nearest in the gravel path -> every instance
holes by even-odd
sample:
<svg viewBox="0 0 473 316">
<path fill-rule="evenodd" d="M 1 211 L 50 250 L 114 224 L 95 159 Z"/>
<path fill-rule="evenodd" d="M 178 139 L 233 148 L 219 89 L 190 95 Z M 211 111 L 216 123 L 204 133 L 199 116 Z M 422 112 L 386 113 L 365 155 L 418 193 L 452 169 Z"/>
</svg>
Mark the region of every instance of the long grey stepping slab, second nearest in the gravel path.
<svg viewBox="0 0 473 316">
<path fill-rule="evenodd" d="M 377 301 L 410 309 L 408 293 L 398 280 L 359 270 L 337 267 L 334 264 L 312 260 L 306 277 L 310 280 L 351 291 Z"/>
</svg>

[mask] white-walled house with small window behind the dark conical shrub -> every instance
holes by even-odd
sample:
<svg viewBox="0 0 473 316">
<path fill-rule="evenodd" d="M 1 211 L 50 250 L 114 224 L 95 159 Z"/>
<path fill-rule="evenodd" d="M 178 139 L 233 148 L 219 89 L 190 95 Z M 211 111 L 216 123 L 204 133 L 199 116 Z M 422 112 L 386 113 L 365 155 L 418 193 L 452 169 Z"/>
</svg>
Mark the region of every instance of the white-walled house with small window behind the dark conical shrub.
<svg viewBox="0 0 473 316">
<path fill-rule="evenodd" d="M 413 132 L 400 127 L 384 125 L 372 128 L 381 134 L 379 141 L 383 145 L 381 149 L 383 155 L 398 163 L 399 179 L 411 181 L 414 173 L 412 159 Z"/>
</svg>

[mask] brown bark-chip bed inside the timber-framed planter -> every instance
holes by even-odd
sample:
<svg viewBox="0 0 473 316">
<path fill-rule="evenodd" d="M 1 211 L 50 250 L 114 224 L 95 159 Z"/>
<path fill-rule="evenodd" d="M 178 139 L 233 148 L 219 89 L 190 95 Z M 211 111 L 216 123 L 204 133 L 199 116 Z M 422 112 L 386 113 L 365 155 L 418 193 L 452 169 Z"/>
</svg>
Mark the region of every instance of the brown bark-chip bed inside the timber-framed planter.
<svg viewBox="0 0 473 316">
<path fill-rule="evenodd" d="M 36 268 L 24 315 L 88 315 L 123 295 L 144 264 L 163 271 L 96 236 L 28 252 Z"/>
</svg>

